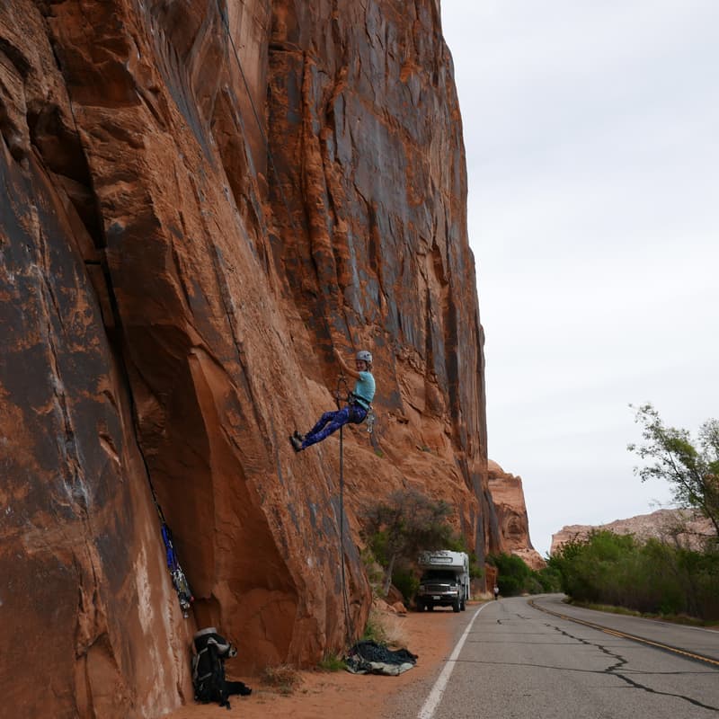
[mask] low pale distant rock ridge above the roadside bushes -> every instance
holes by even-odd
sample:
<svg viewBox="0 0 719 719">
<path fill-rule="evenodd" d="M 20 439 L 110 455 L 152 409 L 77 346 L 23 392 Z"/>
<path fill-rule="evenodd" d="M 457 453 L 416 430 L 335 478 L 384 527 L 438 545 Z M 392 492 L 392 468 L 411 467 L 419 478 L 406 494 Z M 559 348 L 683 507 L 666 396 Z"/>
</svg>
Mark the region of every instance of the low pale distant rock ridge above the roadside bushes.
<svg viewBox="0 0 719 719">
<path fill-rule="evenodd" d="M 554 555 L 567 542 L 586 539 L 590 532 L 606 529 L 615 534 L 633 534 L 637 539 L 671 539 L 681 546 L 698 548 L 706 537 L 714 535 L 712 523 L 690 510 L 656 510 L 630 519 L 617 519 L 608 524 L 590 526 L 570 524 L 552 535 L 550 555 Z"/>
</svg>

